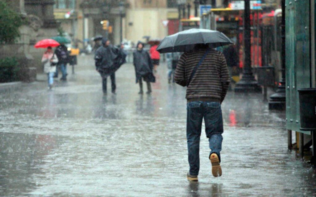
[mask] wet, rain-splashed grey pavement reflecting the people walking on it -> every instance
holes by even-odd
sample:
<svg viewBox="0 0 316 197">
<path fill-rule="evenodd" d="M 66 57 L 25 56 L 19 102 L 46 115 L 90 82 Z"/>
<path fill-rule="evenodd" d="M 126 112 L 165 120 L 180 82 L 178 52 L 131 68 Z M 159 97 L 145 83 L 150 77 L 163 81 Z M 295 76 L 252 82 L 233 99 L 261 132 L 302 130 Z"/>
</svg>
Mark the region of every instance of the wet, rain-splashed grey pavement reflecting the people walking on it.
<svg viewBox="0 0 316 197">
<path fill-rule="evenodd" d="M 316 196 L 315 170 L 287 150 L 285 115 L 261 95 L 228 93 L 223 175 L 211 175 L 202 132 L 199 182 L 189 183 L 185 88 L 167 83 L 166 65 L 152 95 L 137 94 L 127 64 L 117 94 L 103 96 L 92 56 L 79 62 L 52 91 L 0 87 L 0 196 Z"/>
</svg>

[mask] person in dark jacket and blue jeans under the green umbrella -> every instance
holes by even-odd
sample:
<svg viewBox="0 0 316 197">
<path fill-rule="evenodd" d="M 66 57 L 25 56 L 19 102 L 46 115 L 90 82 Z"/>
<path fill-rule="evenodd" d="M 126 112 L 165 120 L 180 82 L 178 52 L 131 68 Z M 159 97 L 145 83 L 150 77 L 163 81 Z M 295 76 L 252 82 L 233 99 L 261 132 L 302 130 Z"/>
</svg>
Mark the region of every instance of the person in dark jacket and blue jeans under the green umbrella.
<svg viewBox="0 0 316 197">
<path fill-rule="evenodd" d="M 58 69 L 60 68 L 62 72 L 62 77 L 60 78 L 61 81 L 67 81 L 67 63 L 69 61 L 69 53 L 67 47 L 64 44 L 59 45 L 55 49 L 55 54 L 58 58 L 58 64 L 56 68 L 56 73 L 54 77 L 58 77 Z"/>
</svg>

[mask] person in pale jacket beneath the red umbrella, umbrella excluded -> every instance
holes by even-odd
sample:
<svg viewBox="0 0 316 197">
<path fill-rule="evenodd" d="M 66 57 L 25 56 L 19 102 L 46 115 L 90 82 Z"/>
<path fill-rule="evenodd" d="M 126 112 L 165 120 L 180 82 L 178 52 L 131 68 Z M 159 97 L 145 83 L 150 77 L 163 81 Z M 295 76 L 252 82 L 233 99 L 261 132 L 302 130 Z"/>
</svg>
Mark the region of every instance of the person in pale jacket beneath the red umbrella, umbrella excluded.
<svg viewBox="0 0 316 197">
<path fill-rule="evenodd" d="M 52 51 L 52 47 L 47 47 L 47 50 L 43 54 L 42 63 L 44 64 L 44 73 L 48 77 L 48 88 L 52 89 L 54 83 L 54 74 L 56 72 L 56 65 L 58 63 L 58 58 Z"/>
</svg>

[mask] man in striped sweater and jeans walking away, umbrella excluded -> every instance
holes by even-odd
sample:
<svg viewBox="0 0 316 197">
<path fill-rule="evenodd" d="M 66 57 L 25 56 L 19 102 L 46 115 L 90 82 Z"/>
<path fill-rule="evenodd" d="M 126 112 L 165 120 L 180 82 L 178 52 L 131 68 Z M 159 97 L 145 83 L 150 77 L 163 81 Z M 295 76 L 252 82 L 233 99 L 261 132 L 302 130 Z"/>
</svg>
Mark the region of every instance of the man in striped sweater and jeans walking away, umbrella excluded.
<svg viewBox="0 0 316 197">
<path fill-rule="evenodd" d="M 208 45 L 198 44 L 193 52 L 185 52 L 181 55 L 174 80 L 181 86 L 187 86 L 186 137 L 190 165 L 187 179 L 198 180 L 199 144 L 203 118 L 211 149 L 209 159 L 212 164 L 212 174 L 214 177 L 219 177 L 222 175 L 220 151 L 223 140 L 221 103 L 230 82 L 225 57 L 221 52 L 209 48 Z"/>
</svg>

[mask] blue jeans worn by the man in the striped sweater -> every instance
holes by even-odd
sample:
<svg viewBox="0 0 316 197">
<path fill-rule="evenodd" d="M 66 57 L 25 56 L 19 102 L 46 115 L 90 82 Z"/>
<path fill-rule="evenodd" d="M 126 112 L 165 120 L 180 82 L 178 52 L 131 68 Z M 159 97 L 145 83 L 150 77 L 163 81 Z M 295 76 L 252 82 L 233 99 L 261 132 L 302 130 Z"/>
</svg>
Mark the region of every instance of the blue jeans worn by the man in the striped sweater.
<svg viewBox="0 0 316 197">
<path fill-rule="evenodd" d="M 206 137 L 209 138 L 210 154 L 220 157 L 222 150 L 223 117 L 218 102 L 193 101 L 187 104 L 186 138 L 190 175 L 197 176 L 200 169 L 200 136 L 204 117 Z M 209 155 L 210 156 L 210 155 Z"/>
</svg>

